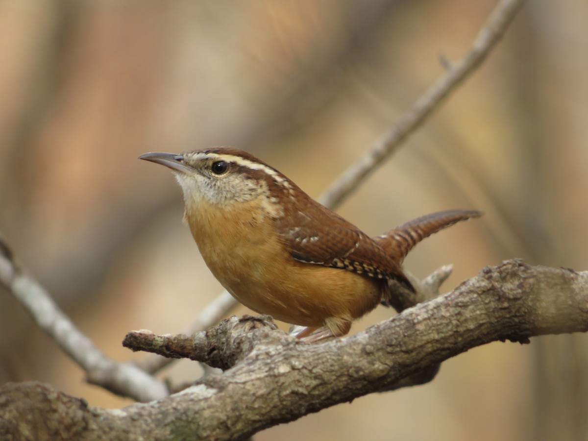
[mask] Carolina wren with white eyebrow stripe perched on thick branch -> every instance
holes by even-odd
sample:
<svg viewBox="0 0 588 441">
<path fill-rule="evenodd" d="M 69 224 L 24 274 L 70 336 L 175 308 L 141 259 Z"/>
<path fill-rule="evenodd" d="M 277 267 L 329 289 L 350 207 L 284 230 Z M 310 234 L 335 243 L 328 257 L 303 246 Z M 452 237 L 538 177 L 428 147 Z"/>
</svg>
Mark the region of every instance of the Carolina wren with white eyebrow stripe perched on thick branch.
<svg viewBox="0 0 588 441">
<path fill-rule="evenodd" d="M 172 169 L 184 220 L 206 265 L 239 302 L 306 326 L 316 341 L 349 332 L 353 320 L 390 303 L 390 280 L 413 290 L 400 268 L 423 238 L 477 211 L 422 216 L 370 238 L 250 153 L 229 147 L 145 153 Z"/>
</svg>

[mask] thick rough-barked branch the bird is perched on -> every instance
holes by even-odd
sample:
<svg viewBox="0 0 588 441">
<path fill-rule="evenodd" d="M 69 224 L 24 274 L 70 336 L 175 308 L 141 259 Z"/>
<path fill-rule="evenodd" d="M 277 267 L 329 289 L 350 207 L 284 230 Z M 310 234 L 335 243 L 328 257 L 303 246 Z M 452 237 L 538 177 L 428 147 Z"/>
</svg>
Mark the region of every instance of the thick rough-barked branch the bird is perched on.
<svg viewBox="0 0 588 441">
<path fill-rule="evenodd" d="M 532 336 L 586 330 L 588 272 L 510 260 L 348 338 L 309 345 L 263 316 L 230 318 L 183 339 L 192 358 L 226 370 L 155 402 L 100 409 L 39 383 L 5 385 L 0 436 L 242 439 L 337 403 L 395 389 L 410 375 L 426 381 L 423 372 L 428 378 L 435 375 L 430 366 L 493 340 L 527 342 Z M 139 332 L 129 338 L 136 343 L 145 336 L 152 349 L 159 345 L 175 356 L 186 352 L 166 340 L 178 343 L 182 337 Z"/>
</svg>

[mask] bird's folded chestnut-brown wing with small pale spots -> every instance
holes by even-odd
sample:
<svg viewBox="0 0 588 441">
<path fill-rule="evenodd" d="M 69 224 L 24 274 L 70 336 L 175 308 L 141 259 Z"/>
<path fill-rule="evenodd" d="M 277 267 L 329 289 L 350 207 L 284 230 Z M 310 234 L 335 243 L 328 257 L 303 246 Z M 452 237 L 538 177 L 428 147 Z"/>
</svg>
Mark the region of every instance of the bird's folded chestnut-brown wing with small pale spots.
<svg viewBox="0 0 588 441">
<path fill-rule="evenodd" d="M 310 198 L 298 207 L 299 211 L 285 216 L 287 223 L 284 218 L 276 219 L 276 228 L 293 258 L 377 279 L 397 279 L 412 288 L 398 263 L 347 220 Z"/>
</svg>

